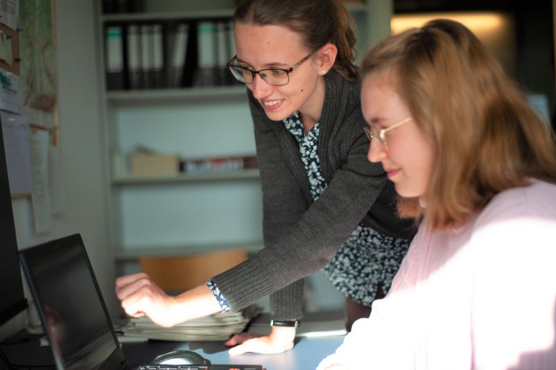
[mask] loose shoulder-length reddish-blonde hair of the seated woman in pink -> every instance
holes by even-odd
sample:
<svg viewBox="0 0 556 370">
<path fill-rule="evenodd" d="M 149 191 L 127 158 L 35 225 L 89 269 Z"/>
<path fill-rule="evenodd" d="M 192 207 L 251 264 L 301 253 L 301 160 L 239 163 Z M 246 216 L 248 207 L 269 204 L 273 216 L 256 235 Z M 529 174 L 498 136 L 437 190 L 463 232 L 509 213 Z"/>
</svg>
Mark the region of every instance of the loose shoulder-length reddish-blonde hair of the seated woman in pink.
<svg viewBox="0 0 556 370">
<path fill-rule="evenodd" d="M 528 177 L 556 183 L 553 132 L 462 24 L 436 19 L 381 42 L 361 75 L 385 71 L 435 151 L 426 209 L 404 199 L 401 215 L 425 213 L 431 230 L 457 227 Z"/>
</svg>

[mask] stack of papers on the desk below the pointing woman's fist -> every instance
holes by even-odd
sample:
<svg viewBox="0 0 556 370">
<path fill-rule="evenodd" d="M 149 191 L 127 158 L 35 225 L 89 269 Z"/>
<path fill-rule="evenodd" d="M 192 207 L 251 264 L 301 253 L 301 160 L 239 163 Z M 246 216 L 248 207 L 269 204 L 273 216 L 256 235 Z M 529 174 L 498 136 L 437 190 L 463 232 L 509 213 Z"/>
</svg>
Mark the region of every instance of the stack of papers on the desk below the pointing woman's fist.
<svg viewBox="0 0 556 370">
<path fill-rule="evenodd" d="M 154 324 L 148 317 L 130 319 L 121 326 L 125 336 L 143 337 L 153 340 L 220 341 L 241 333 L 245 326 L 259 313 L 261 308 L 249 307 L 243 312 L 220 312 L 207 317 L 193 319 L 171 328 Z"/>
</svg>

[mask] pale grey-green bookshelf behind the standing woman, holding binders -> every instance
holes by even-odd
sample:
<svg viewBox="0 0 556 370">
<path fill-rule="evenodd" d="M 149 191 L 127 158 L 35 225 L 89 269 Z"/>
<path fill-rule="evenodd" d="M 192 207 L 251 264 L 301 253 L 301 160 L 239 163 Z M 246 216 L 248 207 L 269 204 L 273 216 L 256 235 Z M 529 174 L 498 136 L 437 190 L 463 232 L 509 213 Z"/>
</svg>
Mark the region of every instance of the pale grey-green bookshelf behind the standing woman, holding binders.
<svg viewBox="0 0 556 370">
<path fill-rule="evenodd" d="M 107 72 L 108 26 L 225 21 L 235 6 L 233 0 L 144 1 L 141 12 L 103 14 L 97 0 L 102 76 Z M 389 14 L 391 5 L 383 0 L 346 2 L 358 28 L 359 58 L 381 36 L 376 25 L 384 20 L 378 17 Z M 105 81 L 101 95 L 107 222 L 118 273 L 132 272 L 129 265 L 141 256 L 184 256 L 231 247 L 256 252 L 263 247 L 259 170 L 141 177 L 114 170 L 114 159 L 127 158 L 137 145 L 181 158 L 253 155 L 243 85 L 107 89 Z"/>
</svg>

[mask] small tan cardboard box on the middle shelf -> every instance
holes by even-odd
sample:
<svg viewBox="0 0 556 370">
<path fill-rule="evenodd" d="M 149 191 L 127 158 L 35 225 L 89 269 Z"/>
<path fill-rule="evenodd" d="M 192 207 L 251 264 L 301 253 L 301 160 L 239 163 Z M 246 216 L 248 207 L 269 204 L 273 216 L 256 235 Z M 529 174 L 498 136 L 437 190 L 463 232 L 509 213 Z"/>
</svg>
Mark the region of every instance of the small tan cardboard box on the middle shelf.
<svg viewBox="0 0 556 370">
<path fill-rule="evenodd" d="M 130 156 L 130 163 L 134 176 L 177 175 L 180 171 L 178 155 L 134 152 Z"/>
</svg>

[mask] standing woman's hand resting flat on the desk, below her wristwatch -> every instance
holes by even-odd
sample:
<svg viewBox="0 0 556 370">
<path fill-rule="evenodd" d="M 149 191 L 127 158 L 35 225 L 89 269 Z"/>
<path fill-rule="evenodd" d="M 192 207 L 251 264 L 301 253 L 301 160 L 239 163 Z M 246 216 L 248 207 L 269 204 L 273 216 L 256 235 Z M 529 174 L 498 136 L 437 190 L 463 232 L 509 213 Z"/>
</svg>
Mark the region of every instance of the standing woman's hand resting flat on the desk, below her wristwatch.
<svg viewBox="0 0 556 370">
<path fill-rule="evenodd" d="M 295 328 L 273 326 L 268 335 L 254 333 L 236 334 L 224 344 L 235 346 L 229 349 L 230 355 L 241 355 L 247 352 L 253 353 L 282 353 L 293 349 Z M 236 346 L 237 344 L 237 346 Z"/>
</svg>

